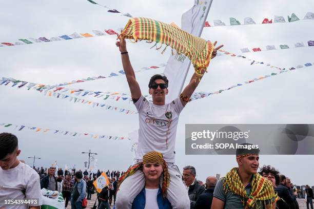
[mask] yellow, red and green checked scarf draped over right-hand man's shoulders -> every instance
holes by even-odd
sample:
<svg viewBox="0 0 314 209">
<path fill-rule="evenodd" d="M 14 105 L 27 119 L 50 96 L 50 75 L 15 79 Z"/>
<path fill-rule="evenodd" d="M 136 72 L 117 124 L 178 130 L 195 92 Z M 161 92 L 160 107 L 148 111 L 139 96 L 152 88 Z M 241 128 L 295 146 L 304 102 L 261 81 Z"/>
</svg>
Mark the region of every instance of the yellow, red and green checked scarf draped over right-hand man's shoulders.
<svg viewBox="0 0 314 209">
<path fill-rule="evenodd" d="M 268 200 L 270 208 L 272 203 L 278 199 L 277 194 L 274 192 L 271 182 L 262 177 L 259 173 L 254 174 L 251 181 L 251 193 L 248 195 L 245 191 L 245 187 L 239 177 L 238 168 L 233 168 L 226 177 L 223 178 L 223 187 L 225 193 L 231 192 L 240 196 L 245 209 L 254 208 L 256 201 Z"/>
</svg>

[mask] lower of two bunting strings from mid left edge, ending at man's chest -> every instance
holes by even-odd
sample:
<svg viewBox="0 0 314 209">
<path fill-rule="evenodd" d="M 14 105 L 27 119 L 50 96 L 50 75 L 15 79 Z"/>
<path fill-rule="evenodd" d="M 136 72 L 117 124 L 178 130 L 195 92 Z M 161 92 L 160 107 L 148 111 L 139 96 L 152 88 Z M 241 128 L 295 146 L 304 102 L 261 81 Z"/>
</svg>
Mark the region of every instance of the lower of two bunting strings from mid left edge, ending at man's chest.
<svg viewBox="0 0 314 209">
<path fill-rule="evenodd" d="M 0 80 L 0 86 L 8 86 L 9 83 L 12 84 L 11 87 L 17 87 L 18 89 L 26 87 L 27 90 L 37 90 L 39 92 L 44 92 L 45 96 L 49 96 L 49 97 L 54 97 L 57 99 L 66 99 L 68 98 L 68 101 L 71 102 L 73 101 L 74 103 L 83 103 L 83 104 L 87 104 L 87 105 L 91 105 L 93 108 L 94 107 L 101 107 L 104 110 L 113 110 L 113 111 L 118 111 L 119 113 L 125 113 L 125 114 L 136 114 L 137 112 L 132 111 L 132 110 L 127 110 L 127 109 L 123 109 L 123 108 L 119 108 L 119 107 L 115 107 L 115 106 L 110 106 L 110 105 L 105 105 L 104 103 L 100 103 L 100 102 L 94 102 L 94 101 L 90 101 L 90 100 L 86 100 L 86 99 L 81 99 L 81 98 L 77 98 L 75 96 L 69 96 L 69 95 L 65 95 L 62 93 L 57 93 L 55 91 L 53 91 L 52 89 L 42 89 L 43 86 L 45 85 L 39 85 L 37 83 L 29 83 L 27 86 L 26 84 L 28 83 L 27 81 L 21 81 L 21 80 L 15 80 L 13 78 L 2 78 L 2 80 Z"/>
</svg>

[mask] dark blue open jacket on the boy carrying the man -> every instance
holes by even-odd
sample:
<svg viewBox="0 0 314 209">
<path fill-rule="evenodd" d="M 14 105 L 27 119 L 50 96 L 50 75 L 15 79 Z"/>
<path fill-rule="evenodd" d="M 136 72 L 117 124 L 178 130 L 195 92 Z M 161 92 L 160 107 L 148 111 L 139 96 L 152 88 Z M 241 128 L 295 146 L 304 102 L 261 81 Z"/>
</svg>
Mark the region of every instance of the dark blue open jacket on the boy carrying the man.
<svg viewBox="0 0 314 209">
<path fill-rule="evenodd" d="M 145 187 L 144 187 L 143 190 L 140 192 L 140 194 L 138 194 L 138 196 L 136 196 L 135 199 L 133 200 L 132 209 L 144 209 L 145 208 L 145 203 L 146 203 L 145 194 L 146 193 L 145 193 Z M 163 193 L 160 187 L 157 194 L 157 204 L 158 204 L 159 209 L 172 208 L 168 199 L 163 197 Z"/>
</svg>

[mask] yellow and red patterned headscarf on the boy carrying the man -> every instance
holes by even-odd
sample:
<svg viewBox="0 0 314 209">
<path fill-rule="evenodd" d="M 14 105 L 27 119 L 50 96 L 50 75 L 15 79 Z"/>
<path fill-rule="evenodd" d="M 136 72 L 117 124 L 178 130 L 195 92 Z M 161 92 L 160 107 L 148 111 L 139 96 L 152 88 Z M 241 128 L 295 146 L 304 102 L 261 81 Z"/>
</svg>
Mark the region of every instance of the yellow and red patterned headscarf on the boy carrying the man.
<svg viewBox="0 0 314 209">
<path fill-rule="evenodd" d="M 138 164 L 135 164 L 131 166 L 123 176 L 120 177 L 119 179 L 119 184 L 118 184 L 118 190 L 121 185 L 121 183 L 128 177 L 133 175 L 136 171 L 141 170 L 143 171 L 143 166 L 146 163 L 158 163 L 163 166 L 163 183 L 162 183 L 162 193 L 165 197 L 167 193 L 167 188 L 169 186 L 170 182 L 170 174 L 168 172 L 168 165 L 166 161 L 164 160 L 163 154 L 160 152 L 148 152 L 143 156 L 143 162 L 140 162 Z M 118 191 L 117 190 L 117 191 Z"/>
</svg>

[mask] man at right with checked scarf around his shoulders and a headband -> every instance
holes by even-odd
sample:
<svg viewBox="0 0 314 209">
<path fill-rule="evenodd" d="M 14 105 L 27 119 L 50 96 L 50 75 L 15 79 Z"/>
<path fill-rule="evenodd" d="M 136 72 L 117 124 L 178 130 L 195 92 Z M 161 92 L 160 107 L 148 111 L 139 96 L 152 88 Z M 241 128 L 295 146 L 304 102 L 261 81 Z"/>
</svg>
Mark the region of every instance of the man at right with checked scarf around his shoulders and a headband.
<svg viewBox="0 0 314 209">
<path fill-rule="evenodd" d="M 213 193 L 212 209 L 276 208 L 277 195 L 271 181 L 257 173 L 259 153 L 259 149 L 237 149 L 239 168 L 231 169 L 226 177 L 218 181 Z"/>
</svg>

